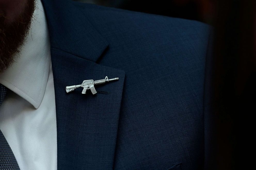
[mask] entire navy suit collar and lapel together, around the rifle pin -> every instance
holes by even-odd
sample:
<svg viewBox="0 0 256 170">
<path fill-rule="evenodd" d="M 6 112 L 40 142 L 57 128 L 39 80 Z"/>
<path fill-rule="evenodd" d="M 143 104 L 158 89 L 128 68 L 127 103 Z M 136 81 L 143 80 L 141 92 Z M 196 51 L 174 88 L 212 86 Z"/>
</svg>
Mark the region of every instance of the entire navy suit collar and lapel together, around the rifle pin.
<svg viewBox="0 0 256 170">
<path fill-rule="evenodd" d="M 108 42 L 68 3 L 43 0 L 51 40 L 58 169 L 112 169 L 125 73 L 95 63 Z M 95 95 L 81 94 L 82 88 L 65 91 L 105 76 L 119 80 L 96 85 Z"/>
</svg>

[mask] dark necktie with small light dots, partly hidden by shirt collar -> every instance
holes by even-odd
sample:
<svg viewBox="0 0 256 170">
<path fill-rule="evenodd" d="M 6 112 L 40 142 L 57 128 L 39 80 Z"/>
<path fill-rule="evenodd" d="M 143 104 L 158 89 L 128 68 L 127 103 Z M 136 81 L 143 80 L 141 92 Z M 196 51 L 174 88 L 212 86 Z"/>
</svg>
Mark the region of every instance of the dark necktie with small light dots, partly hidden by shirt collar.
<svg viewBox="0 0 256 170">
<path fill-rule="evenodd" d="M 0 105 L 2 104 L 6 95 L 7 88 L 0 84 Z M 0 169 L 17 170 L 20 169 L 15 159 L 12 149 L 6 141 L 3 133 L 0 130 Z"/>
</svg>

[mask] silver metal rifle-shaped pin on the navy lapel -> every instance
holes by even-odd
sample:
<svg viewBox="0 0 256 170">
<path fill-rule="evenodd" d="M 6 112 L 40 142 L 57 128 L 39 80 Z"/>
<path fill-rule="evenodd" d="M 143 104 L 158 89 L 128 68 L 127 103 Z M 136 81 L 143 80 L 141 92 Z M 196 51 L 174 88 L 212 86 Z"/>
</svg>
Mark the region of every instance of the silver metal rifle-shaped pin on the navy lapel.
<svg viewBox="0 0 256 170">
<path fill-rule="evenodd" d="M 86 94 L 86 90 L 89 90 L 89 89 L 91 89 L 92 94 L 96 94 L 97 91 L 95 90 L 94 85 L 102 84 L 102 83 L 106 83 L 106 82 L 109 82 L 112 80 L 118 80 L 118 79 L 119 79 L 118 77 L 108 79 L 108 76 L 106 76 L 105 79 L 96 80 L 96 81 L 84 80 L 82 84 L 74 85 L 74 86 L 66 86 L 66 92 L 69 93 L 69 92 L 75 90 L 76 88 L 83 87 L 84 89 L 82 91 L 82 94 Z"/>
</svg>

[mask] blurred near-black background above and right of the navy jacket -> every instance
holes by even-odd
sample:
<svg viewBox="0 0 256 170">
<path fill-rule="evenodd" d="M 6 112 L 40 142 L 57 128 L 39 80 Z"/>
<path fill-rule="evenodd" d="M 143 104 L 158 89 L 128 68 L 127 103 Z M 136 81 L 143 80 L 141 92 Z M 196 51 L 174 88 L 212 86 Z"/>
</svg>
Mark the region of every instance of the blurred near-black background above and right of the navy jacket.
<svg viewBox="0 0 256 170">
<path fill-rule="evenodd" d="M 76 0 L 213 26 L 213 169 L 256 169 L 255 0 Z"/>
</svg>

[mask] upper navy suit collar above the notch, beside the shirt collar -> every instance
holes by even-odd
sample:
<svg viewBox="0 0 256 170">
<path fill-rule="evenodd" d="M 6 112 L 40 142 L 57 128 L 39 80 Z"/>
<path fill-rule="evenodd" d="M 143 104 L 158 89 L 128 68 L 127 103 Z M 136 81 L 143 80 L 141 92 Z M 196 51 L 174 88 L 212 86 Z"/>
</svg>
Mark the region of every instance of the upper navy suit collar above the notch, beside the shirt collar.
<svg viewBox="0 0 256 170">
<path fill-rule="evenodd" d="M 73 1 L 42 0 L 51 37 L 51 47 L 97 61 L 108 42 L 91 25 Z"/>
</svg>

